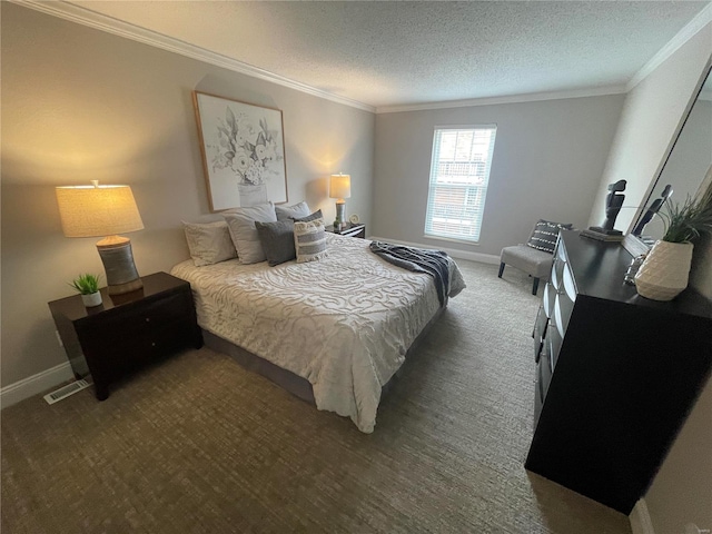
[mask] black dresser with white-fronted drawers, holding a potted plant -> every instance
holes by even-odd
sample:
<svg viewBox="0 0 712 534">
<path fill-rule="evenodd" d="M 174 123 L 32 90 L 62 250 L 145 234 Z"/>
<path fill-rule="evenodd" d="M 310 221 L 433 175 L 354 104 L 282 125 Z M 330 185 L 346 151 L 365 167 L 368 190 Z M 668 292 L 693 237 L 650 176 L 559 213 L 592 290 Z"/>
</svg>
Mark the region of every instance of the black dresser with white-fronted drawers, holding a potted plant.
<svg viewBox="0 0 712 534">
<path fill-rule="evenodd" d="M 623 283 L 620 245 L 562 230 L 534 325 L 526 468 L 619 512 L 644 496 L 712 368 L 712 303 Z"/>
</svg>

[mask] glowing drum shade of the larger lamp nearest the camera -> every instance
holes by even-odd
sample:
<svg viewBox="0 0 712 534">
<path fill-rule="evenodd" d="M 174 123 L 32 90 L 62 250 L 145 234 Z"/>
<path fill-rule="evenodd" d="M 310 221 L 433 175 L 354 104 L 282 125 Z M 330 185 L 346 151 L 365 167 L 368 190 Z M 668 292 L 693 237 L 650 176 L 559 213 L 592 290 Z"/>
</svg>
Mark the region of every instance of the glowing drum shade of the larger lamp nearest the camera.
<svg viewBox="0 0 712 534">
<path fill-rule="evenodd" d="M 57 204 L 67 237 L 102 237 L 144 229 L 129 186 L 58 187 Z"/>
</svg>

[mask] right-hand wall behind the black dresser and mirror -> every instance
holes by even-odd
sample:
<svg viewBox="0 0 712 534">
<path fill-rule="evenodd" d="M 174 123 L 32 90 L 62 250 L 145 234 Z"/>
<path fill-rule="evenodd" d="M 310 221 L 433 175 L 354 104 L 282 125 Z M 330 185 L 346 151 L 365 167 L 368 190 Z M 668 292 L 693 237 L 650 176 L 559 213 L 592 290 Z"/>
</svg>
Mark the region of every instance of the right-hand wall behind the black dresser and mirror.
<svg viewBox="0 0 712 534">
<path fill-rule="evenodd" d="M 666 157 L 683 112 L 712 53 L 712 24 L 690 39 L 625 99 L 611 155 L 591 212 L 591 222 L 603 212 L 607 184 L 629 180 L 625 205 L 639 206 L 647 196 L 656 170 Z M 623 210 L 616 228 L 627 229 L 635 210 Z M 695 245 L 692 285 L 712 298 L 712 240 Z M 684 358 L 684 333 L 674 358 Z M 671 448 L 645 502 L 655 534 L 680 534 L 688 523 L 712 528 L 712 382 L 708 382 Z"/>
</svg>

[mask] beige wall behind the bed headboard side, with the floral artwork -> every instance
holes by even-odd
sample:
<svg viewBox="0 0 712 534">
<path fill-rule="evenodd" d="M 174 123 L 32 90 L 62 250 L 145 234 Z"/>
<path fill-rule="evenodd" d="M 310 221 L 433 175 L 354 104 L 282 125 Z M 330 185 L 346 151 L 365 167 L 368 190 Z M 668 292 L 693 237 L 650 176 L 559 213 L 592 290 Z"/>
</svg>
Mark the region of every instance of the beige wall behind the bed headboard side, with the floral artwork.
<svg viewBox="0 0 712 534">
<path fill-rule="evenodd" d="M 191 91 L 281 109 L 289 202 L 335 216 L 326 177 L 353 179 L 348 214 L 370 222 L 373 113 L 83 26 L 2 9 L 2 360 L 6 386 L 67 362 L 47 303 L 102 273 L 97 239 L 62 236 L 55 187 L 129 184 L 145 230 L 140 274 L 188 257 L 181 219 L 208 212 Z"/>
</svg>

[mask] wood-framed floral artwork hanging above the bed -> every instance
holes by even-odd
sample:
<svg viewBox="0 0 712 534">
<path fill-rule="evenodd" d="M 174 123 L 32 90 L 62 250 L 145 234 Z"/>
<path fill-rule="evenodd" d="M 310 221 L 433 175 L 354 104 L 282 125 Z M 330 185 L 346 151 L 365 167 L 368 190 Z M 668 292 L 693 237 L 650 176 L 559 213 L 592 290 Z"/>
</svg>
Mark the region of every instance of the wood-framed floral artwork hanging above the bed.
<svg viewBox="0 0 712 534">
<path fill-rule="evenodd" d="M 281 111 L 194 91 L 212 211 L 287 201 Z"/>
</svg>

